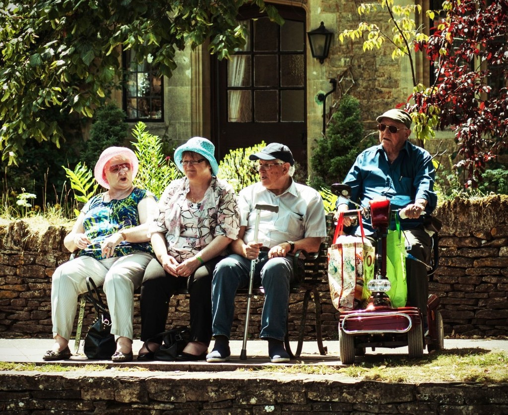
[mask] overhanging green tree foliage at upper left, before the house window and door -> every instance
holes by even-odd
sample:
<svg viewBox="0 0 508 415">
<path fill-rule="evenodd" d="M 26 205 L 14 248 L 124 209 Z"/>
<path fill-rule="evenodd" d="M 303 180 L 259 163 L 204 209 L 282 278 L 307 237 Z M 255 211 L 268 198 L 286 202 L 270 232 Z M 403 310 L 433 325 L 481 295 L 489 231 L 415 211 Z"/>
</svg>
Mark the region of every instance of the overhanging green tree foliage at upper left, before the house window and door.
<svg viewBox="0 0 508 415">
<path fill-rule="evenodd" d="M 18 0 L 0 1 L 0 148 L 16 163 L 23 143 L 58 147 L 61 126 L 47 113 L 93 115 L 121 80 L 121 49 L 141 62 L 151 55 L 171 76 L 175 53 L 208 41 L 219 59 L 245 43 L 236 20 L 256 4 L 282 23 L 264 0 Z"/>
</svg>

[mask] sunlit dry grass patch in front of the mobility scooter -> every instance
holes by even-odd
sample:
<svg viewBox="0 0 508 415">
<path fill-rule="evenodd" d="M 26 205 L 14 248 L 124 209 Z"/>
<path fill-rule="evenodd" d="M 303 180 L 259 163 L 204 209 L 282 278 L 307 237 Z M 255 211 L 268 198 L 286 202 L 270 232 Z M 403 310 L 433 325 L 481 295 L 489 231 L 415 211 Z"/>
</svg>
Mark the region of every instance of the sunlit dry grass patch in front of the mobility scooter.
<svg viewBox="0 0 508 415">
<path fill-rule="evenodd" d="M 480 382 L 500 384 L 508 382 L 508 353 L 493 350 L 453 350 L 424 355 L 420 360 L 392 356 L 379 361 L 379 356 L 366 356 L 359 364 L 344 368 L 326 365 L 268 366 L 248 370 L 279 373 L 341 374 L 364 380 L 384 382 Z M 376 361 L 372 361 L 375 359 Z M 245 370 L 245 369 L 244 369 Z"/>
</svg>

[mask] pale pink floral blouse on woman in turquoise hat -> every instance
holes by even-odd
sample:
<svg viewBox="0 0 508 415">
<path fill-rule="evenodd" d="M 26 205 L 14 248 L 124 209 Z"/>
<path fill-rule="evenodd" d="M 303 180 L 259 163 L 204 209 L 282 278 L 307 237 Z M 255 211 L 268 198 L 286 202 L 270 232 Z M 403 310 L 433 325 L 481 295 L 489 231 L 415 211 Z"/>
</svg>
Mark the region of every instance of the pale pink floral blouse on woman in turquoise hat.
<svg viewBox="0 0 508 415">
<path fill-rule="evenodd" d="M 166 234 L 168 254 L 178 263 L 194 257 L 217 235 L 236 239 L 240 230 L 235 191 L 229 183 L 212 177 L 200 203 L 187 200 L 188 192 L 186 177 L 172 181 L 161 196 L 160 214 L 150 227 L 151 233 Z"/>
</svg>

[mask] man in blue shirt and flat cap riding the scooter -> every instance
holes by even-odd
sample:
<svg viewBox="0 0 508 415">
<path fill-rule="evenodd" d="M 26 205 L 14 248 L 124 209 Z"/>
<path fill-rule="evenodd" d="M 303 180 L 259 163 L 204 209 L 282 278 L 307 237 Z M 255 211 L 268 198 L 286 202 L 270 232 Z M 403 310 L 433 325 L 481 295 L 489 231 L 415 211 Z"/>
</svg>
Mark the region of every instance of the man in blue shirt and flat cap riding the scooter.
<svg viewBox="0 0 508 415">
<path fill-rule="evenodd" d="M 432 156 L 407 139 L 411 134 L 411 116 L 403 110 L 391 109 L 376 118 L 379 145 L 363 151 L 344 178 L 343 184 L 352 188 L 351 199 L 366 207 L 369 201 L 386 197 L 392 209 L 402 209 L 407 219 L 401 220 L 408 252 L 424 263 L 430 259 L 431 238 L 423 226 L 423 213 L 436 207 L 434 193 L 434 167 Z M 349 208 L 346 201 L 337 201 L 337 210 Z M 353 206 L 351 206 L 353 208 Z M 402 214 L 403 216 L 403 214 Z M 351 218 L 344 218 L 351 225 Z M 363 219 L 365 234 L 372 234 L 370 218 Z M 392 224 L 393 225 L 393 224 Z M 393 227 L 392 227 L 393 229 Z M 352 233 L 359 232 L 358 226 Z M 419 307 L 427 331 L 427 269 L 416 261 L 406 262 L 408 303 Z"/>
</svg>

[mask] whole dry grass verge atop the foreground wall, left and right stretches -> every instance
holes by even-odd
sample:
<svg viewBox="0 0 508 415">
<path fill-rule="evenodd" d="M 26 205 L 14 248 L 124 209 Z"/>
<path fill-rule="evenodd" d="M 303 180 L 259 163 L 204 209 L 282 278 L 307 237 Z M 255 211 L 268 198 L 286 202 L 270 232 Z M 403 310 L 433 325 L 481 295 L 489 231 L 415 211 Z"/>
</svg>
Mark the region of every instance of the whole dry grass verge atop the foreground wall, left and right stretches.
<svg viewBox="0 0 508 415">
<path fill-rule="evenodd" d="M 360 359 L 359 359 L 360 360 Z M 358 364 L 347 367 L 324 364 L 295 364 L 290 366 L 257 366 L 238 371 L 285 374 L 340 374 L 360 380 L 383 382 L 404 382 L 421 384 L 424 382 L 478 382 L 481 384 L 501 384 L 508 382 L 508 353 L 504 350 L 454 349 L 441 353 L 424 355 L 420 360 L 409 360 L 406 356 L 389 358 L 380 355 L 366 355 Z M 100 364 L 60 365 L 0 362 L 1 371 L 36 371 L 40 373 L 58 372 L 151 372 L 143 367 L 120 367 Z"/>
</svg>

